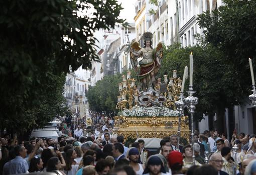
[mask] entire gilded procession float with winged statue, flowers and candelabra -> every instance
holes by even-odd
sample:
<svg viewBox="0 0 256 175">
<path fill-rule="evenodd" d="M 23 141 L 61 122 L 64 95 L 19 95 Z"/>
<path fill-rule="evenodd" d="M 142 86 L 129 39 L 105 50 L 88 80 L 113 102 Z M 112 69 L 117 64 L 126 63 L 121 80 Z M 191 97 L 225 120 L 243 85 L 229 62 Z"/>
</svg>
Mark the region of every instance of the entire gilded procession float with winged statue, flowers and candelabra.
<svg viewBox="0 0 256 175">
<path fill-rule="evenodd" d="M 161 82 L 161 78 L 156 80 L 164 58 L 163 46 L 159 43 L 157 48 L 152 48 L 153 35 L 150 32 L 144 33 L 143 37 L 143 48 L 138 42 L 131 43 L 131 64 L 137 73 L 137 80 L 131 77 L 131 72 L 122 76 L 116 105 L 119 113 L 114 117 L 113 131 L 118 135 L 122 134 L 125 139 L 163 138 L 177 134 L 178 142 L 180 138 L 188 141 L 189 118 L 184 116 L 183 108 L 187 104 L 194 109 L 193 104 L 189 104 L 191 99 L 183 97 L 188 67 L 184 69 L 183 81 L 177 78 L 175 70 L 169 81 L 167 75 L 164 76 L 164 82 Z M 189 97 L 193 97 L 192 95 L 193 92 Z M 192 100 L 197 102 L 197 98 Z"/>
</svg>

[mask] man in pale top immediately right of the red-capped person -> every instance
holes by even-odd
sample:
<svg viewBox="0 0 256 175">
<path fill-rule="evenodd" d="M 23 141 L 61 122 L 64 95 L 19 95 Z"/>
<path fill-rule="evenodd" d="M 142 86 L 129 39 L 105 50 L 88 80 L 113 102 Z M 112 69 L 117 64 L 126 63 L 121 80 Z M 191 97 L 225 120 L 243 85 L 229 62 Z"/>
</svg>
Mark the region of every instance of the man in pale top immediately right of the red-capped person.
<svg viewBox="0 0 256 175">
<path fill-rule="evenodd" d="M 200 148 L 199 148 L 200 149 Z M 190 166 L 193 165 L 193 153 L 192 153 L 192 148 L 189 144 L 183 147 L 182 149 L 182 155 L 184 157 L 183 159 L 183 168 L 189 168 Z M 197 160 L 195 160 L 195 165 L 201 166 Z"/>
</svg>

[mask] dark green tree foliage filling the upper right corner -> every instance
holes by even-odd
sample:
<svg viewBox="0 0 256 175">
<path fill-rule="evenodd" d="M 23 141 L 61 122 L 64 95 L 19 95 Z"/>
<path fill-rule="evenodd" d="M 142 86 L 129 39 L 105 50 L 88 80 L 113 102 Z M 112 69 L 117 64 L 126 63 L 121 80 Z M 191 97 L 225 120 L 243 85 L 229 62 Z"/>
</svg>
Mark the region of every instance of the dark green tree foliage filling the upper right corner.
<svg viewBox="0 0 256 175">
<path fill-rule="evenodd" d="M 232 67 L 229 78 L 235 80 L 230 88 L 241 103 L 251 86 L 248 57 L 256 56 L 256 2 L 224 0 L 223 3 L 212 13 L 199 15 L 197 20 L 205 29 L 206 42 L 219 48 L 224 53 L 224 64 Z"/>
</svg>

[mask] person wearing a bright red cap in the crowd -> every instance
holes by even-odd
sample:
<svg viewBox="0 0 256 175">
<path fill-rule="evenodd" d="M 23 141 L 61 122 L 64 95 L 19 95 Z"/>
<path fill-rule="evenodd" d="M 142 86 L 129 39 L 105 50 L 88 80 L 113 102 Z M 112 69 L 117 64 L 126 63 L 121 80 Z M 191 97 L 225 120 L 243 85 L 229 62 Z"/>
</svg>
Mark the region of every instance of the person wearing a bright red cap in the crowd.
<svg viewBox="0 0 256 175">
<path fill-rule="evenodd" d="M 169 167 L 172 170 L 172 174 L 182 174 L 183 157 L 179 151 L 171 151 L 168 155 Z"/>
</svg>

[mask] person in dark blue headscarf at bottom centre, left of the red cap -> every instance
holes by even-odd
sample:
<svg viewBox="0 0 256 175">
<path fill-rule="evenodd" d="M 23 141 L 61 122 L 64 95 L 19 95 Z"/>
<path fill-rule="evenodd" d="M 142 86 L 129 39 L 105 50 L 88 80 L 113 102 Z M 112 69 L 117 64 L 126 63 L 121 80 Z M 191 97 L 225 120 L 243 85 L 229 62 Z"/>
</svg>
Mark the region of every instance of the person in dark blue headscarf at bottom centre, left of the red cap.
<svg viewBox="0 0 256 175">
<path fill-rule="evenodd" d="M 164 163 L 157 155 L 151 155 L 145 163 L 143 174 L 146 175 L 166 175 Z"/>
</svg>

